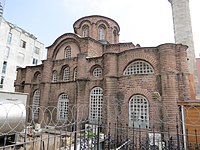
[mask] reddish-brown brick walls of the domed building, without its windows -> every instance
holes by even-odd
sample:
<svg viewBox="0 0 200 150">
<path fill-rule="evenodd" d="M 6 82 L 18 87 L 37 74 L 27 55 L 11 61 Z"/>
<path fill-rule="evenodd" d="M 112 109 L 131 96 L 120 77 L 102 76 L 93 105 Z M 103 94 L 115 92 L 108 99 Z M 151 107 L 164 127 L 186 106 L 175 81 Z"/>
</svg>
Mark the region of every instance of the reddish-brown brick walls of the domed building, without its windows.
<svg viewBox="0 0 200 150">
<path fill-rule="evenodd" d="M 91 23 L 92 37 L 81 37 L 81 26 Z M 97 23 L 98 22 L 98 23 Z M 108 28 L 107 44 L 97 39 L 97 25 L 103 23 Z M 103 121 L 116 122 L 117 117 L 122 124 L 128 124 L 129 100 L 135 94 L 143 95 L 149 103 L 150 126 L 160 122 L 162 110 L 163 120 L 171 123 L 175 131 L 178 114 L 177 100 L 190 99 L 187 46 L 182 44 L 162 44 L 157 47 L 140 47 L 133 43 L 112 43 L 114 29 L 118 24 L 107 17 L 87 16 L 74 24 L 79 34 L 64 34 L 48 47 L 48 58 L 39 66 L 19 68 L 15 89 L 17 92 L 29 93 L 28 105 L 32 105 L 33 93 L 40 90 L 40 105 L 57 107 L 58 98 L 65 93 L 69 97 L 69 107 L 76 105 L 79 109 L 77 119 L 88 117 L 90 91 L 94 87 L 103 89 Z M 95 28 L 96 27 L 96 28 Z M 64 58 L 64 48 L 71 46 L 72 57 Z M 154 70 L 153 74 L 136 74 L 125 76 L 125 68 L 135 60 L 148 62 Z M 70 80 L 62 81 L 63 67 L 70 68 Z M 99 66 L 103 70 L 100 77 L 93 76 L 93 69 Z M 78 75 L 74 81 L 73 71 L 77 67 Z M 52 72 L 58 72 L 58 81 L 52 81 Z M 41 80 L 35 74 L 41 74 Z M 159 92 L 160 100 L 154 99 L 154 92 Z M 40 113 L 39 120 L 44 114 Z M 72 114 L 69 116 L 75 117 Z M 31 116 L 29 116 L 31 117 Z M 46 116 L 48 118 L 48 115 Z M 48 120 L 48 119 L 47 119 Z M 56 112 L 53 115 L 56 120 Z M 158 124 L 157 128 L 161 124 Z M 169 126 L 169 124 L 168 124 Z M 166 125 L 165 129 L 168 128 Z"/>
</svg>

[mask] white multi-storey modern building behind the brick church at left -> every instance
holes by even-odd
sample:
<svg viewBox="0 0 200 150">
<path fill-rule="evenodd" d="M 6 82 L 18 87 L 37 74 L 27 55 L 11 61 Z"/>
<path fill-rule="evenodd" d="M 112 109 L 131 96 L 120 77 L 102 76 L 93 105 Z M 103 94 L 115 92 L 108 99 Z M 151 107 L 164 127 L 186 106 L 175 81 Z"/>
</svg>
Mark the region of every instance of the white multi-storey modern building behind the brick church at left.
<svg viewBox="0 0 200 150">
<path fill-rule="evenodd" d="M 44 44 L 27 31 L 7 22 L 0 24 L 0 91 L 14 91 L 16 69 L 41 64 Z"/>
</svg>

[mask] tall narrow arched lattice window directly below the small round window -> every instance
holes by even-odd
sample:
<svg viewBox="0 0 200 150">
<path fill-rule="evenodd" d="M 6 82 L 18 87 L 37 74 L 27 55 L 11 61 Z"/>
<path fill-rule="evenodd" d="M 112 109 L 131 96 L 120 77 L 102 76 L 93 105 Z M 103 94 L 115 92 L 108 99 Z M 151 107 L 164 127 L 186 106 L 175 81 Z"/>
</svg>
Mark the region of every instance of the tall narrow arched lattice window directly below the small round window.
<svg viewBox="0 0 200 150">
<path fill-rule="evenodd" d="M 103 89 L 95 87 L 90 92 L 89 121 L 97 124 L 102 121 Z"/>
</svg>

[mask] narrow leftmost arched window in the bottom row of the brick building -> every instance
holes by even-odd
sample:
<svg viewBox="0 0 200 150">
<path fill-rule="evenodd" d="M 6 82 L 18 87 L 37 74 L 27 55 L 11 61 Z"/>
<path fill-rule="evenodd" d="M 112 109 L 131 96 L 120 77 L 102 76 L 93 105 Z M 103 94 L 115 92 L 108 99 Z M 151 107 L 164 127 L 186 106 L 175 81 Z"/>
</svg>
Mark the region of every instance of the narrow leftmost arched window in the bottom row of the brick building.
<svg viewBox="0 0 200 150">
<path fill-rule="evenodd" d="M 32 105 L 32 118 L 34 119 L 38 119 L 39 105 L 40 105 L 40 91 L 36 90 L 33 94 L 33 105 Z"/>
</svg>

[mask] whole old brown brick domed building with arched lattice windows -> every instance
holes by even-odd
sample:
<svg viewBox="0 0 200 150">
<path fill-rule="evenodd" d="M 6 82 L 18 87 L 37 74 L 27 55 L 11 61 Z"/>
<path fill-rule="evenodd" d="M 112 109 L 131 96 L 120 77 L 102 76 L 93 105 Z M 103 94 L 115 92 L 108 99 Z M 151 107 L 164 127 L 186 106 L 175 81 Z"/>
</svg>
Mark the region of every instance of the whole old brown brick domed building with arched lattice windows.
<svg viewBox="0 0 200 150">
<path fill-rule="evenodd" d="M 119 25 L 104 16 L 80 18 L 73 27 L 75 33 L 47 47 L 41 65 L 18 69 L 15 89 L 29 93 L 29 118 L 119 121 L 135 128 L 157 124 L 158 129 L 164 121 L 175 130 L 177 100 L 191 97 L 187 46 L 119 43 Z M 41 106 L 57 109 L 42 113 Z"/>
</svg>

